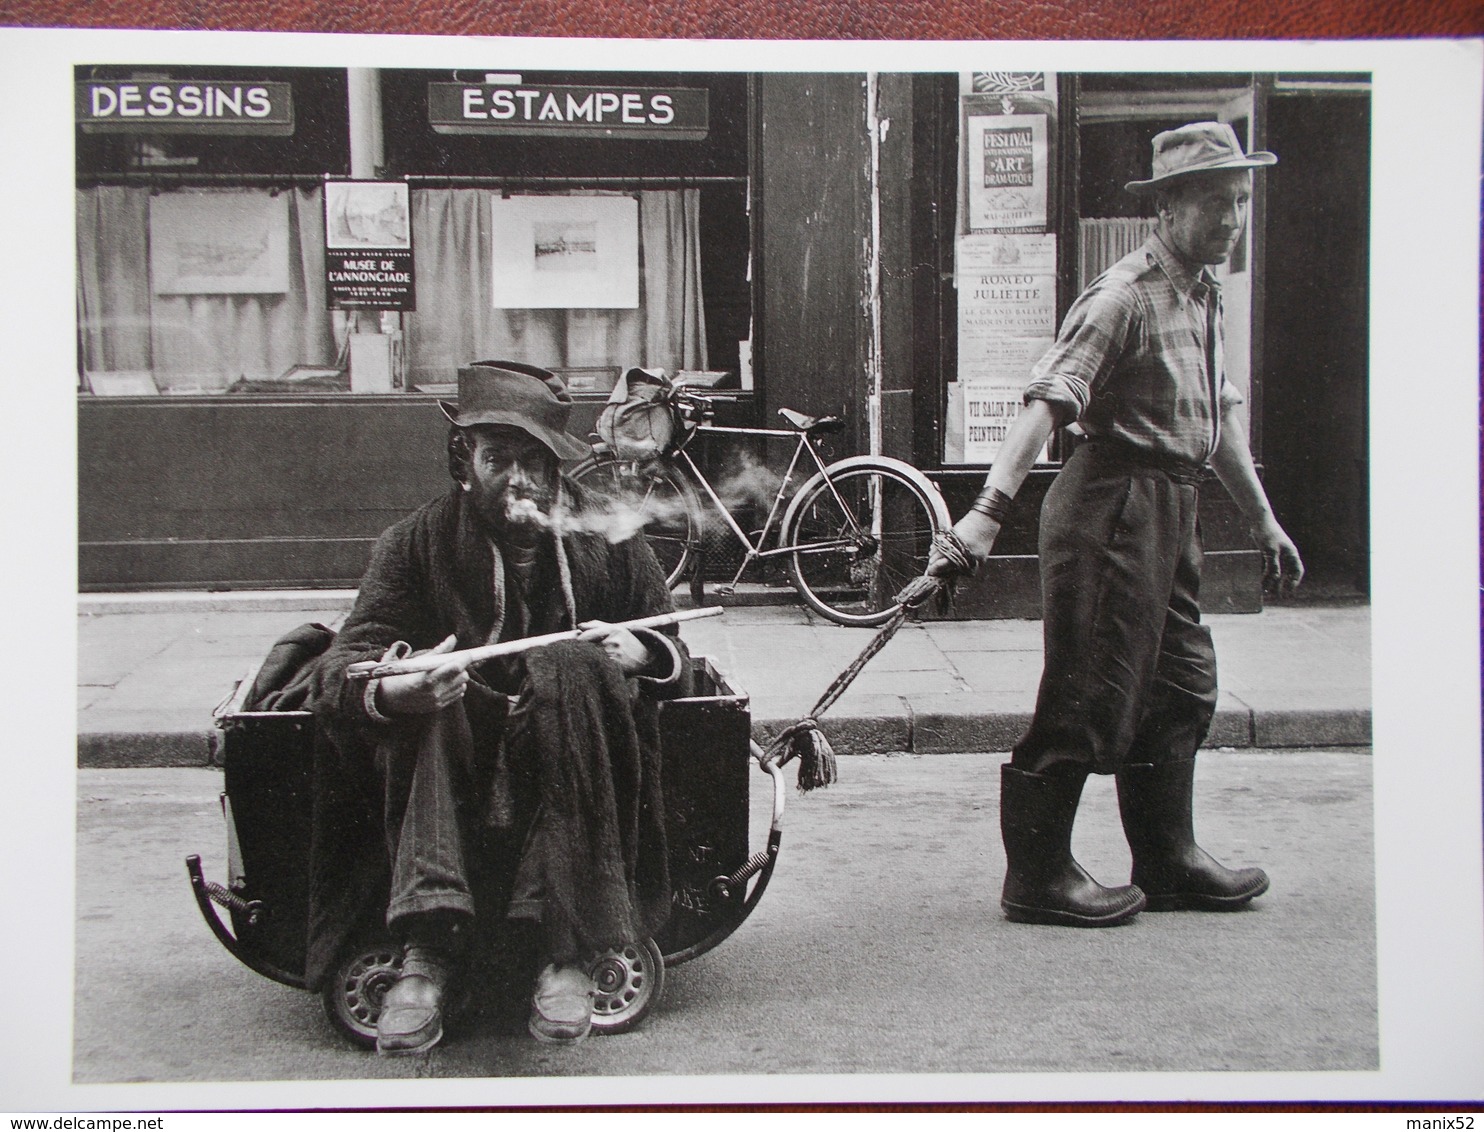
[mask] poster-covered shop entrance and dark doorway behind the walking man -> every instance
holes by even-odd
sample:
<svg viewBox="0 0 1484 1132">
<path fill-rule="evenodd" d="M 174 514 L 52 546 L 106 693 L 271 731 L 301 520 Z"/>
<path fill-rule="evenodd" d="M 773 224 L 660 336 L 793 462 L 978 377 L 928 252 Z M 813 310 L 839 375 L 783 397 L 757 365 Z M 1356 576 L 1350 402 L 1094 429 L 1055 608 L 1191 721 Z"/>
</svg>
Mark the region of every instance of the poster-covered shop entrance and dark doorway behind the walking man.
<svg viewBox="0 0 1484 1132">
<path fill-rule="evenodd" d="M 1244 393 L 1252 451 L 1310 588 L 1368 592 L 1367 233 L 1370 83 L 1362 74 L 969 73 L 919 77 L 922 206 L 913 450 L 954 515 L 982 484 L 1036 358 L 1104 269 L 1153 218 L 1123 184 L 1149 177 L 1155 134 L 1232 125 L 1279 163 L 1254 181 L 1250 224 L 1217 270 L 1224 371 Z M 962 616 L 1036 616 L 1037 510 L 1074 436 L 1048 445 Z M 1201 497 L 1202 605 L 1261 608 L 1261 564 L 1212 479 Z"/>
</svg>

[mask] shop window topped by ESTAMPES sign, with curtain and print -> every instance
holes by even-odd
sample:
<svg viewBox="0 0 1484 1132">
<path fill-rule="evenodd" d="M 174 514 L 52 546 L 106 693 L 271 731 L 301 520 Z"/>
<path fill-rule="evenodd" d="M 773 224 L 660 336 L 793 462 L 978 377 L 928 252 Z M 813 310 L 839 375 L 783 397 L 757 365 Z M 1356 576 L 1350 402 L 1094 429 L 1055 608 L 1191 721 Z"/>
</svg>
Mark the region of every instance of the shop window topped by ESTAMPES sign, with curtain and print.
<svg viewBox="0 0 1484 1132">
<path fill-rule="evenodd" d="M 559 369 L 579 396 L 631 365 L 748 384 L 746 76 L 386 71 L 381 89 L 427 280 L 404 322 L 413 387 L 481 356 Z"/>
</svg>

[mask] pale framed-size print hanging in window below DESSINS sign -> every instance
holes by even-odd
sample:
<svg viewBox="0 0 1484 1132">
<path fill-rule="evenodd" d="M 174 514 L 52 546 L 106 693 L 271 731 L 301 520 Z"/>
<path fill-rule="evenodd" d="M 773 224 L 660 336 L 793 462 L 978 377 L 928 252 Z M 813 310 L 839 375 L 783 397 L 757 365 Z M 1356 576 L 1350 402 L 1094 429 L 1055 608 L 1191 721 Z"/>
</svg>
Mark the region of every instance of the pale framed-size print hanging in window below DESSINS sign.
<svg viewBox="0 0 1484 1132">
<path fill-rule="evenodd" d="M 156 295 L 288 292 L 288 197 L 255 188 L 150 197 Z"/>
</svg>

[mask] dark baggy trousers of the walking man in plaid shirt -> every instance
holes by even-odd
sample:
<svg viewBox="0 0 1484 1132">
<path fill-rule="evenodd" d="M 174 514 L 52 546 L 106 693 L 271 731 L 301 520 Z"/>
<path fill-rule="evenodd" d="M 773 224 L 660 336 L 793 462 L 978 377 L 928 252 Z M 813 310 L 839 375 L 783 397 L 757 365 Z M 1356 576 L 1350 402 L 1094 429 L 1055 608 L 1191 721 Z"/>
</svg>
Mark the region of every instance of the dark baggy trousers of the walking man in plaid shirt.
<svg viewBox="0 0 1484 1132">
<path fill-rule="evenodd" d="M 1011 764 L 1110 774 L 1195 755 L 1215 714 L 1193 467 L 1080 445 L 1040 513 L 1045 668 Z"/>
</svg>

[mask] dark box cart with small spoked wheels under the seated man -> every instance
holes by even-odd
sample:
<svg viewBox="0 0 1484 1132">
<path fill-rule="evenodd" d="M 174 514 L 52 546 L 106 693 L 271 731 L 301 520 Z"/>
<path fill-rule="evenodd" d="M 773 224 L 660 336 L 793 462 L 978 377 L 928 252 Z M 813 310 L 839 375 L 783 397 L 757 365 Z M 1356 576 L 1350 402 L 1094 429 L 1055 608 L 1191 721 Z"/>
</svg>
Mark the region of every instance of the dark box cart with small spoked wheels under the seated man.
<svg viewBox="0 0 1484 1132">
<path fill-rule="evenodd" d="M 706 657 L 692 657 L 696 694 L 660 703 L 671 914 L 653 938 L 598 955 L 594 1030 L 637 1025 L 659 1000 L 665 969 L 730 936 L 757 906 L 782 840 L 784 780 L 751 739 L 748 697 Z M 227 880 L 209 881 L 186 859 L 206 926 L 252 970 L 306 988 L 309 843 L 315 720 L 306 711 L 245 711 L 257 671 L 217 708 Z M 772 777 L 767 843 L 749 853 L 749 764 Z M 226 909 L 223 918 L 218 908 Z M 381 996 L 396 981 L 401 948 L 368 923 L 322 990 L 329 1021 L 353 1041 L 375 1043 Z"/>
</svg>

